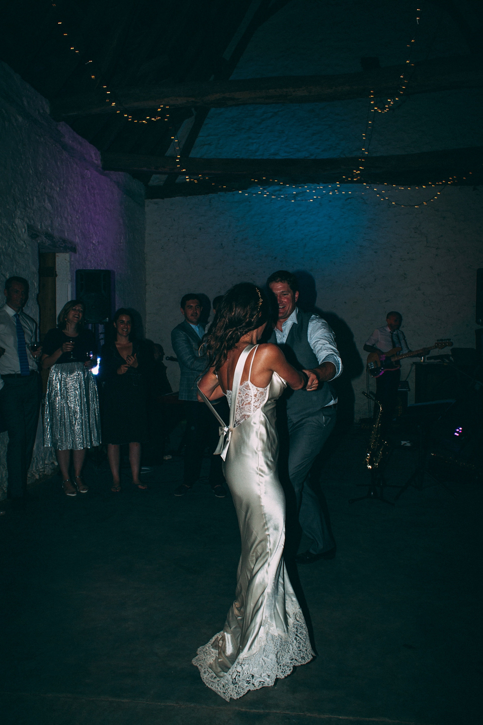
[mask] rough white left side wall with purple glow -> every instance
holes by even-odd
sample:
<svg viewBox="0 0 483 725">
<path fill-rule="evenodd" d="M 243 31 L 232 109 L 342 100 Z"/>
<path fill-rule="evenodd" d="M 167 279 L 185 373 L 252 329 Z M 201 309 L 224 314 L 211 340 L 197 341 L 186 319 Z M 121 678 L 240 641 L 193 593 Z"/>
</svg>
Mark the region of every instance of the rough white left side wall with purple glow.
<svg viewBox="0 0 483 725">
<path fill-rule="evenodd" d="M 30 281 L 25 311 L 38 320 L 38 245 L 27 225 L 72 241 L 75 270 L 114 270 L 116 305 L 144 315 L 143 186 L 127 174 L 106 173 L 96 149 L 69 126 L 54 123 L 47 101 L 7 65 L 0 64 L 0 278 Z M 40 432 L 40 428 L 39 428 Z M 5 446 L 0 443 L 0 486 L 5 484 Z M 38 436 L 32 475 L 53 460 Z"/>
</svg>

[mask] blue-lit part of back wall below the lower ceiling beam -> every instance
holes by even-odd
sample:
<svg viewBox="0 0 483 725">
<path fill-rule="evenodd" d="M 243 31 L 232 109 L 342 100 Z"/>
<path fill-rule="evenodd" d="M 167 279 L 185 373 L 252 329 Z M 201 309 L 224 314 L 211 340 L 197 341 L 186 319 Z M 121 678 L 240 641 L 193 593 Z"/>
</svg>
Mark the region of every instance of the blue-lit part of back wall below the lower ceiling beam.
<svg viewBox="0 0 483 725">
<path fill-rule="evenodd" d="M 366 413 L 366 376 L 350 337 L 365 358 L 364 341 L 385 323 L 388 310 L 403 313 L 413 349 L 440 337 L 474 347 L 475 270 L 483 265 L 481 189 L 449 187 L 419 209 L 387 206 L 360 187 L 349 190 L 350 196 L 314 202 L 238 193 L 149 202 L 148 336 L 172 355 L 170 332 L 181 320 L 185 291 L 213 299 L 237 282 L 264 283 L 280 268 L 302 270 L 314 278 L 316 306 L 332 313 L 340 330 L 350 377 L 357 375 L 356 418 Z M 173 363 L 169 377 L 177 389 Z"/>
</svg>

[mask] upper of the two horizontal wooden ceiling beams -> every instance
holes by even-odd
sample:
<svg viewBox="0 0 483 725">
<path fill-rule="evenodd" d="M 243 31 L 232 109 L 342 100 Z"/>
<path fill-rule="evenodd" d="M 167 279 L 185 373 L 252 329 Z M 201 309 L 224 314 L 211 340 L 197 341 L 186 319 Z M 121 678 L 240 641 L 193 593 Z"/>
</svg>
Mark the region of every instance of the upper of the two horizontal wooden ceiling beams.
<svg viewBox="0 0 483 725">
<path fill-rule="evenodd" d="M 112 90 L 116 107 L 106 104 L 105 94 L 91 94 L 56 99 L 52 115 L 67 119 L 76 115 L 116 113 L 118 109 L 222 108 L 246 104 L 319 103 L 369 98 L 390 98 L 397 94 L 400 75 L 406 72 L 405 95 L 475 88 L 483 85 L 483 67 L 472 56 L 438 58 L 416 63 L 408 72 L 407 65 L 393 65 L 376 70 L 338 75 L 299 75 L 280 78 L 248 78 L 181 83 L 177 86 L 146 86 Z"/>
</svg>

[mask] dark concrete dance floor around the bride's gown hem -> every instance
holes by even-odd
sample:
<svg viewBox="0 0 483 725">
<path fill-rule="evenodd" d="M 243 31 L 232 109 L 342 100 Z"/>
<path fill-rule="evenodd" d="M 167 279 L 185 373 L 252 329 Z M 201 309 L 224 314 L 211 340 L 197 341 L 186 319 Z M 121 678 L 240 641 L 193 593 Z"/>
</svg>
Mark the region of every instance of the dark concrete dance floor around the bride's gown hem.
<svg viewBox="0 0 483 725">
<path fill-rule="evenodd" d="M 318 658 L 230 703 L 190 663 L 232 601 L 230 497 L 202 484 L 173 497 L 177 459 L 148 474 L 148 492 L 125 471 L 111 494 L 92 464 L 85 496 L 65 497 L 57 476 L 41 484 L 38 502 L 0 519 L 2 723 L 481 722 L 482 488 L 349 505 L 364 449 L 353 431 L 324 468 L 337 557 L 299 571 Z M 396 451 L 390 475 L 404 480 L 414 456 Z"/>
</svg>

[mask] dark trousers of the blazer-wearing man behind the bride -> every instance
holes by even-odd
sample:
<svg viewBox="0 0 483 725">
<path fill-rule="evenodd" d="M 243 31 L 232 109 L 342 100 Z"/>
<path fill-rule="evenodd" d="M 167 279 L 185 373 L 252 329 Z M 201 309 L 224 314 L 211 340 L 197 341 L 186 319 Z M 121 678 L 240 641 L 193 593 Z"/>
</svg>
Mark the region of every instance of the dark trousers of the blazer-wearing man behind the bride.
<svg viewBox="0 0 483 725">
<path fill-rule="evenodd" d="M 219 423 L 205 403 L 186 400 L 185 411 L 187 429 L 183 483 L 186 486 L 193 486 L 200 477 L 205 448 L 209 447 L 212 453 L 217 447 Z M 212 455 L 209 484 L 211 488 L 214 488 L 214 486 L 221 485 L 223 481 L 222 457 Z"/>
</svg>

